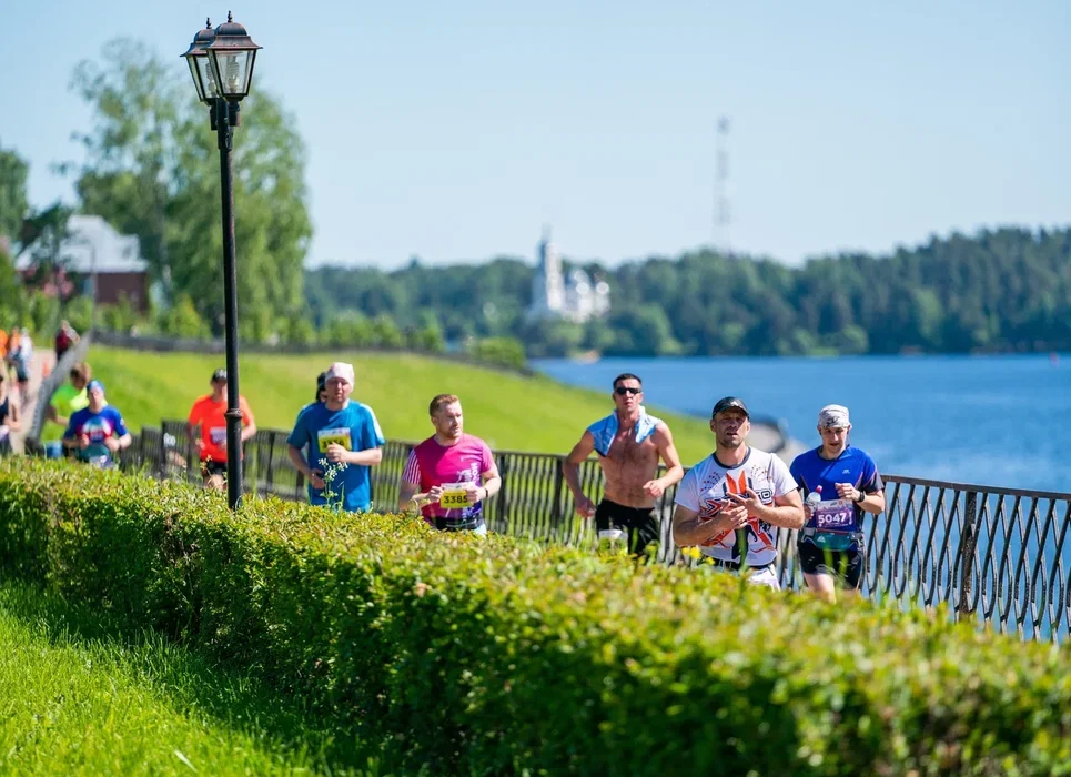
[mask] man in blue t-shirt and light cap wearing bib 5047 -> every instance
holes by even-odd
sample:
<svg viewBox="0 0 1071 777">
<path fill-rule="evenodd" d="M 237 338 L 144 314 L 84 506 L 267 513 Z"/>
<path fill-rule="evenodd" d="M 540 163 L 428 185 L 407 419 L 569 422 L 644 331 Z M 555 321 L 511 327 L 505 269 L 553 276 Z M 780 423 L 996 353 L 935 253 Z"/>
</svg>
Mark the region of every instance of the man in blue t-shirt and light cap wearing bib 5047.
<svg viewBox="0 0 1071 777">
<path fill-rule="evenodd" d="M 836 598 L 836 582 L 857 592 L 867 567 L 863 513 L 885 511 L 885 483 L 866 451 L 848 444 L 851 423 L 843 405 L 818 413 L 822 444 L 799 454 L 790 468 L 804 494 L 807 524 L 799 531 L 797 557 L 807 587 Z"/>
</svg>

